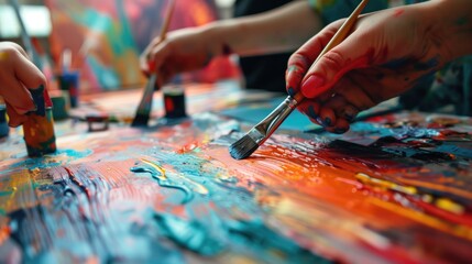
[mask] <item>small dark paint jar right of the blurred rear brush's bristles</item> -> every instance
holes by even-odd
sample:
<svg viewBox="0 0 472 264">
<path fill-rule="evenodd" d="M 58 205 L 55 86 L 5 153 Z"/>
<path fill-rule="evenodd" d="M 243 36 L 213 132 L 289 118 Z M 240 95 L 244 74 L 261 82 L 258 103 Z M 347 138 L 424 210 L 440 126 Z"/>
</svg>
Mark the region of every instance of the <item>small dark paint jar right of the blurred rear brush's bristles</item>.
<svg viewBox="0 0 472 264">
<path fill-rule="evenodd" d="M 163 88 L 165 118 L 186 118 L 185 89 L 182 87 Z"/>
</svg>

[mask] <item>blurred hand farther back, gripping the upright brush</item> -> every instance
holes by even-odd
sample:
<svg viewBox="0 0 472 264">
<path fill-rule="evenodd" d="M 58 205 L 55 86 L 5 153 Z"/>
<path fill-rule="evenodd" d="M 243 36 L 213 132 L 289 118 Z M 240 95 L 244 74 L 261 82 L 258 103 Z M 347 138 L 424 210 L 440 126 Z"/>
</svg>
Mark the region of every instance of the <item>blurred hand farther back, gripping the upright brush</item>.
<svg viewBox="0 0 472 264">
<path fill-rule="evenodd" d="M 208 31 L 190 28 L 169 32 L 165 40 L 155 37 L 140 58 L 141 70 L 156 73 L 161 82 L 174 75 L 200 69 L 218 53 Z"/>
</svg>

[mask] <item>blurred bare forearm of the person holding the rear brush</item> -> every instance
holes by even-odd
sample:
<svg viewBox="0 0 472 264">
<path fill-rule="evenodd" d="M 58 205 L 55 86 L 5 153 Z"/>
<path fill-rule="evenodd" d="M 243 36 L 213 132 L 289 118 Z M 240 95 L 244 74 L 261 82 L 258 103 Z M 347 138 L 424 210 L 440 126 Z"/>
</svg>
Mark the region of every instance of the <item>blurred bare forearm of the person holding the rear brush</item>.
<svg viewBox="0 0 472 264">
<path fill-rule="evenodd" d="M 217 48 L 229 47 L 241 56 L 288 52 L 321 29 L 321 21 L 308 1 L 295 1 L 262 14 L 218 21 L 204 32 Z"/>
</svg>

